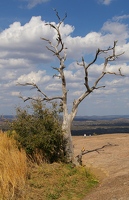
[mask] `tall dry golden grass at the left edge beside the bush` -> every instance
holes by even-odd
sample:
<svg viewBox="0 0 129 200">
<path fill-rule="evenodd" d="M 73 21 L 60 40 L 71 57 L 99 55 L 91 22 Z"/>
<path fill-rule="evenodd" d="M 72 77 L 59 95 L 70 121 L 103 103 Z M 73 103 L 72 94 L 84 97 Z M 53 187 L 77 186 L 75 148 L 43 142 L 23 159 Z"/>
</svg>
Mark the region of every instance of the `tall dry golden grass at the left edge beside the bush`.
<svg viewBox="0 0 129 200">
<path fill-rule="evenodd" d="M 0 200 L 24 196 L 27 175 L 26 154 L 14 139 L 0 131 Z"/>
</svg>

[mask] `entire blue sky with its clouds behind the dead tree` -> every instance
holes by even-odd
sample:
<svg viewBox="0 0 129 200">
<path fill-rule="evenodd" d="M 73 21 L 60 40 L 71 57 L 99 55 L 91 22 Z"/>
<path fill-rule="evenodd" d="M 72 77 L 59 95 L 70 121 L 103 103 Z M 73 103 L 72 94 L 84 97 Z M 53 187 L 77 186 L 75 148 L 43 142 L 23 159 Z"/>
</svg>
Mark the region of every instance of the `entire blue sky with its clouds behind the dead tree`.
<svg viewBox="0 0 129 200">
<path fill-rule="evenodd" d="M 60 93 L 60 82 L 52 78 L 50 66 L 58 66 L 56 58 L 46 50 L 41 37 L 53 41 L 55 33 L 45 26 L 57 23 L 67 12 L 61 32 L 68 47 L 65 70 L 69 90 L 69 111 L 74 99 L 84 91 L 84 72 L 76 61 L 85 57 L 88 63 L 98 48 L 108 48 L 118 40 L 117 52 L 125 51 L 112 71 L 121 67 L 125 77 L 106 76 L 101 85 L 79 106 L 78 115 L 129 114 L 129 1 L 128 0 L 2 0 L 0 1 L 0 115 L 15 114 L 15 107 L 25 104 L 18 98 L 35 96 L 17 82 L 35 82 L 50 96 Z M 103 57 L 90 70 L 90 83 L 99 76 Z"/>
</svg>

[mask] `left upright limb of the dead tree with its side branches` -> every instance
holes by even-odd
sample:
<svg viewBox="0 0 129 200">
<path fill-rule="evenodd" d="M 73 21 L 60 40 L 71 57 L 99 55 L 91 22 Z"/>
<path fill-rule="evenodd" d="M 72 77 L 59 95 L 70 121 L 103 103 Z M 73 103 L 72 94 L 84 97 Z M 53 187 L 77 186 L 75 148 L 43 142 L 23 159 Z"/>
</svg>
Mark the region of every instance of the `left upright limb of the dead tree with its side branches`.
<svg viewBox="0 0 129 200">
<path fill-rule="evenodd" d="M 65 60 L 66 60 L 66 50 L 67 48 L 64 47 L 62 35 L 60 32 L 60 26 L 64 22 L 64 20 L 67 17 L 67 14 L 65 14 L 64 18 L 61 20 L 59 17 L 59 14 L 56 9 L 54 9 L 56 16 L 59 20 L 58 24 L 54 23 L 47 23 L 46 26 L 50 26 L 50 28 L 54 29 L 56 31 L 57 37 L 56 37 L 56 44 L 53 44 L 53 42 L 47 38 L 41 38 L 42 40 L 46 41 L 48 43 L 48 46 L 46 48 L 53 53 L 54 56 L 56 56 L 59 59 L 60 65 L 59 67 L 53 67 L 54 70 L 56 70 L 59 74 L 53 75 L 53 77 L 58 77 L 61 79 L 62 82 L 62 96 L 55 96 L 55 97 L 48 97 L 44 92 L 41 91 L 41 89 L 35 84 L 35 83 L 25 83 L 25 84 L 20 84 L 22 86 L 32 86 L 31 89 L 35 88 L 40 94 L 43 95 L 43 98 L 41 99 L 42 101 L 52 101 L 52 100 L 61 100 L 63 102 L 63 106 L 65 110 L 67 110 L 66 105 L 67 105 L 67 89 L 66 89 L 66 80 L 65 80 L 65 75 L 64 75 L 64 68 L 65 68 Z M 33 97 L 27 97 L 23 98 L 21 97 L 24 101 L 27 100 L 36 100 Z"/>
</svg>

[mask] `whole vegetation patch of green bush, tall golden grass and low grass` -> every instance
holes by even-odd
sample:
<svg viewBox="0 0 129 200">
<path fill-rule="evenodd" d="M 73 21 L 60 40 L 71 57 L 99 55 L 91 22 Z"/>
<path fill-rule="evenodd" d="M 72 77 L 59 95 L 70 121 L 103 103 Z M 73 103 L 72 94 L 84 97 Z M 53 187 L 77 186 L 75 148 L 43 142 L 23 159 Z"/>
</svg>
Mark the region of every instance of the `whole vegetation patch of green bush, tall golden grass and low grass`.
<svg viewBox="0 0 129 200">
<path fill-rule="evenodd" d="M 17 108 L 11 130 L 0 139 L 1 200 L 82 200 L 98 184 L 85 167 L 65 163 L 56 104 Z"/>
</svg>

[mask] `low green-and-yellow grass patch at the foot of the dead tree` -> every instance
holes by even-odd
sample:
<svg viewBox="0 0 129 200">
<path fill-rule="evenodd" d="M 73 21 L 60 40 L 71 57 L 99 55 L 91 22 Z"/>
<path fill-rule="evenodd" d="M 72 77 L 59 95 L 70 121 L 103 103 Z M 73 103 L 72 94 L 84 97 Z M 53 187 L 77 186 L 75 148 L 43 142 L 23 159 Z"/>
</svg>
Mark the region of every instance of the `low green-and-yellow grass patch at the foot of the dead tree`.
<svg viewBox="0 0 129 200">
<path fill-rule="evenodd" d="M 98 180 L 85 167 L 53 163 L 31 167 L 26 199 L 82 200 Z"/>
</svg>

